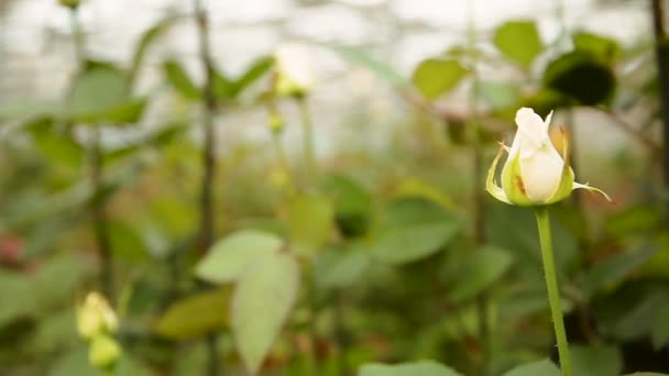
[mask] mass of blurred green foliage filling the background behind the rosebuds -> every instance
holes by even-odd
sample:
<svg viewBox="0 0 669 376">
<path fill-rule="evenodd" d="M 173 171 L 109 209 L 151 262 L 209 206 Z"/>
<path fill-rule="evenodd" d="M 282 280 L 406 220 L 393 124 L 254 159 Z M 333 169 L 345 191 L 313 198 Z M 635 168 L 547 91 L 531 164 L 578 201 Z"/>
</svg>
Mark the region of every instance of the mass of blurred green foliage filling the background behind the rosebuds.
<svg viewBox="0 0 669 376">
<path fill-rule="evenodd" d="M 573 47 L 563 51 L 534 22 L 509 21 L 491 36 L 495 51 L 458 46 L 406 78 L 369 52 L 319 45 L 418 98 L 416 113 L 381 151 L 344 145 L 320 161 L 318 181 L 296 190 L 284 180 L 308 174 L 276 173 L 286 166 L 268 152 L 268 129 L 266 145 L 223 142 L 217 241 L 199 255 L 201 145 L 193 135 L 202 85 L 174 56 L 161 64 L 163 87 L 139 93 L 135 85 L 151 44 L 177 22 L 150 27 L 128 68 L 85 60 L 63 102 L 0 106 L 0 371 L 97 375 L 74 308 L 100 288 L 97 275 L 110 262 L 119 375 L 205 374 L 211 334 L 231 375 L 559 374 L 531 213 L 489 201 L 469 161 L 475 150 L 487 164 L 522 106 L 616 114 L 632 91 L 639 107 L 657 109 L 655 93 L 621 73 L 647 51 L 584 32 L 568 36 Z M 476 65 L 487 62 L 522 77 L 482 79 Z M 213 67 L 216 104 L 262 110 L 270 99 L 292 100 L 271 98 L 273 64 L 260 58 L 234 78 Z M 465 82 L 476 111 L 464 119 L 434 111 Z M 160 96 L 173 112 L 149 123 Z M 103 135 L 98 187 L 89 183 L 94 132 Z M 105 142 L 114 132 L 123 142 Z M 648 155 L 638 163 L 655 170 Z M 652 174 L 629 181 L 612 170 L 599 177 L 616 206 L 580 197 L 551 208 L 577 376 L 669 372 L 669 233 L 659 210 L 667 188 Z M 107 208 L 111 261 L 96 252 L 91 202 Z"/>
</svg>

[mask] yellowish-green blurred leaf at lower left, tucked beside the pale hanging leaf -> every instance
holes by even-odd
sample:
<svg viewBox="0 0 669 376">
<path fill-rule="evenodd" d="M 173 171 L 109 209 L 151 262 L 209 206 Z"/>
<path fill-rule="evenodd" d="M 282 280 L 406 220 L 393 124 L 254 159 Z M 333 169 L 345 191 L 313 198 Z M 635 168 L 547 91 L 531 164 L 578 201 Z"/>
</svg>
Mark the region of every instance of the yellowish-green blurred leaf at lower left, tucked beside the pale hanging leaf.
<svg viewBox="0 0 669 376">
<path fill-rule="evenodd" d="M 229 311 L 229 288 L 199 292 L 173 302 L 156 320 L 153 330 L 173 340 L 197 339 L 228 325 Z"/>
</svg>

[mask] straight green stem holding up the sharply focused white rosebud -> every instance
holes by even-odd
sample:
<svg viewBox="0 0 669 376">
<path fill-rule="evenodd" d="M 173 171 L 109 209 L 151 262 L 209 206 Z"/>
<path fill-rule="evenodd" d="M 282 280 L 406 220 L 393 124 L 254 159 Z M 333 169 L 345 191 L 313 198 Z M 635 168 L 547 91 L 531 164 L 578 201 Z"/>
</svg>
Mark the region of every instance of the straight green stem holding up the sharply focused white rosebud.
<svg viewBox="0 0 669 376">
<path fill-rule="evenodd" d="M 535 209 L 535 214 L 537 217 L 537 226 L 539 229 L 541 258 L 544 259 L 544 273 L 546 276 L 546 287 L 548 289 L 548 301 L 550 302 L 550 312 L 556 330 L 556 340 L 558 342 L 560 367 L 562 368 L 563 376 L 571 376 L 571 361 L 569 357 L 569 346 L 567 344 L 567 333 L 564 332 L 564 319 L 562 318 L 562 307 L 560 303 L 560 289 L 558 288 L 556 263 L 552 254 L 548 209 L 546 207 L 537 207 Z"/>
</svg>

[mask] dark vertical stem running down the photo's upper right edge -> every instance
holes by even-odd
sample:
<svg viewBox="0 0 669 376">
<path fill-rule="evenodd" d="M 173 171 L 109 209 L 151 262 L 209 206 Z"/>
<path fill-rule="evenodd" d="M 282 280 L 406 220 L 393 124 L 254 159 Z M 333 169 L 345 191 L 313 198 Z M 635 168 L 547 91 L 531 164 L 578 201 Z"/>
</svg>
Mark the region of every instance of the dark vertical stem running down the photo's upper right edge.
<svg viewBox="0 0 669 376">
<path fill-rule="evenodd" d="M 669 189 L 669 41 L 665 34 L 665 14 L 661 0 L 651 0 L 655 57 L 660 85 L 660 109 L 662 115 L 662 176 L 665 190 Z M 669 222 L 669 206 L 665 209 Z"/>
</svg>

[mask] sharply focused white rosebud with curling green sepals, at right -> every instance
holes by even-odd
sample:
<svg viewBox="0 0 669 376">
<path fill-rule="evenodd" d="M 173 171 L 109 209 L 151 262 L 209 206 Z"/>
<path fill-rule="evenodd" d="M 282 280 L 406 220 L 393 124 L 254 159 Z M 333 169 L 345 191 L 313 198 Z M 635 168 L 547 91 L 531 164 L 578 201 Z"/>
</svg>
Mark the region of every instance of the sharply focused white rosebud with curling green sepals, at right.
<svg viewBox="0 0 669 376">
<path fill-rule="evenodd" d="M 533 109 L 522 108 L 516 113 L 518 131 L 511 145 L 502 145 L 487 173 L 486 190 L 497 200 L 522 207 L 535 207 L 563 200 L 577 188 L 603 195 L 602 190 L 574 181 L 569 165 L 569 142 L 564 131 L 549 135 L 550 118 L 544 121 Z M 555 143 L 553 143 L 555 142 Z M 561 147 L 558 152 L 556 145 Z M 495 181 L 497 162 L 504 151 L 508 157 L 502 169 L 502 186 Z"/>
</svg>

